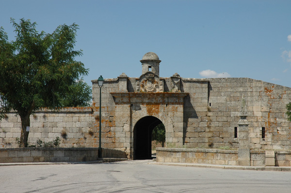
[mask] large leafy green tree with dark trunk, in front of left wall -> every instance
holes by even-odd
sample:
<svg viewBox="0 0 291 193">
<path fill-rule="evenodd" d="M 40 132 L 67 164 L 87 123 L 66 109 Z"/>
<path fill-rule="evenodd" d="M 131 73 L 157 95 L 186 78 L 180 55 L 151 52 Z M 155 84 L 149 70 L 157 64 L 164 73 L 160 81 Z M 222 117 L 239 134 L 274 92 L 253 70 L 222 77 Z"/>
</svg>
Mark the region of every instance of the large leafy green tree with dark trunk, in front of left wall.
<svg viewBox="0 0 291 193">
<path fill-rule="evenodd" d="M 16 40 L 8 41 L 0 28 L 1 115 L 14 109 L 21 119 L 20 147 L 27 147 L 30 115 L 41 107 L 58 108 L 87 75 L 84 64 L 75 61 L 82 52 L 73 50 L 78 25 L 60 25 L 49 34 L 36 30 L 36 23 L 11 19 Z"/>
</svg>

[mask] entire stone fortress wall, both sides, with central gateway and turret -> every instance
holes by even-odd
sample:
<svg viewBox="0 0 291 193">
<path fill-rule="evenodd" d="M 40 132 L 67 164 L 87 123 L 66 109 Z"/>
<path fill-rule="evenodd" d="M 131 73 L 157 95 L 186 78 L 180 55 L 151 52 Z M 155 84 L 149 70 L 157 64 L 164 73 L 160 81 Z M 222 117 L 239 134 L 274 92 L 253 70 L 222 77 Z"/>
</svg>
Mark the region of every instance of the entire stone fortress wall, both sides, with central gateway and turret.
<svg viewBox="0 0 291 193">
<path fill-rule="evenodd" d="M 65 133 L 61 147 L 98 147 L 101 118 L 102 147 L 123 150 L 133 159 L 151 158 L 151 133 L 160 123 L 167 148 L 238 148 L 239 160 L 250 150 L 291 150 L 286 115 L 291 88 L 251 78 L 160 77 L 161 60 L 153 52 L 140 62 L 139 77 L 122 73 L 105 79 L 101 116 L 100 89 L 92 80 L 92 107 L 36 112 L 29 142 Z M 2 147 L 13 146 L 19 118 L 11 113 L 0 127 Z"/>
</svg>

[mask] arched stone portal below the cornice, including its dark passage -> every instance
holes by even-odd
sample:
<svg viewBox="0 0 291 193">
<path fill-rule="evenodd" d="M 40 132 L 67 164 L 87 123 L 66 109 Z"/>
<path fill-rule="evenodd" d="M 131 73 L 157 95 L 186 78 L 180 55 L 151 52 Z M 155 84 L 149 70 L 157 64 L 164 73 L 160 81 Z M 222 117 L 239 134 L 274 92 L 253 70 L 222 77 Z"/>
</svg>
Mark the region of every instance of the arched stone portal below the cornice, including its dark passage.
<svg viewBox="0 0 291 193">
<path fill-rule="evenodd" d="M 122 144 L 120 148 L 126 150 L 130 158 L 151 158 L 149 135 L 161 122 L 165 126 L 166 144 L 182 147 L 185 93 L 111 94 L 115 103 L 115 145 Z"/>
</svg>

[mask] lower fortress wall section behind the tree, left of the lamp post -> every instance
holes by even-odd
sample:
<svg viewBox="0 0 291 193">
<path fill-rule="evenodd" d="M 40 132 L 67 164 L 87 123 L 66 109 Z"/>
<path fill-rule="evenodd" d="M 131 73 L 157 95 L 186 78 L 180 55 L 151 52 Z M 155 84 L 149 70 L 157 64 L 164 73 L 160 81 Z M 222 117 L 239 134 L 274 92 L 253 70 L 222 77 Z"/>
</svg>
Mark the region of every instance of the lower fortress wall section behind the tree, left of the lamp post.
<svg viewBox="0 0 291 193">
<path fill-rule="evenodd" d="M 36 145 L 37 140 L 49 142 L 60 137 L 61 148 L 98 147 L 98 128 L 92 107 L 42 109 L 31 115 L 30 122 L 30 145 Z M 0 121 L 0 148 L 18 148 L 20 128 L 20 117 L 15 112 L 7 113 Z"/>
</svg>

